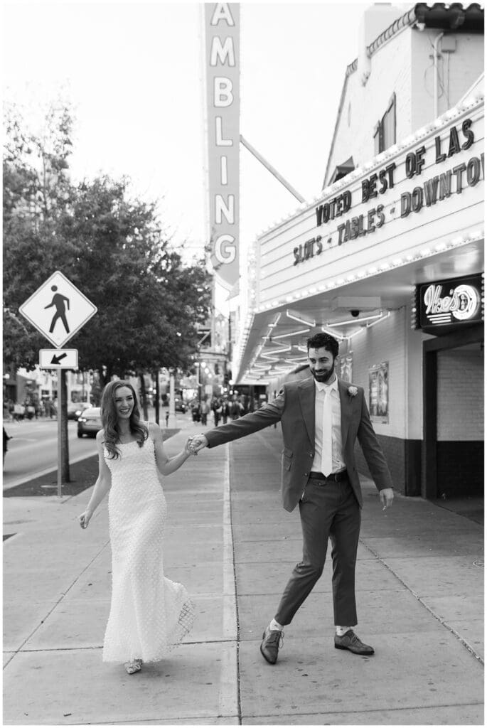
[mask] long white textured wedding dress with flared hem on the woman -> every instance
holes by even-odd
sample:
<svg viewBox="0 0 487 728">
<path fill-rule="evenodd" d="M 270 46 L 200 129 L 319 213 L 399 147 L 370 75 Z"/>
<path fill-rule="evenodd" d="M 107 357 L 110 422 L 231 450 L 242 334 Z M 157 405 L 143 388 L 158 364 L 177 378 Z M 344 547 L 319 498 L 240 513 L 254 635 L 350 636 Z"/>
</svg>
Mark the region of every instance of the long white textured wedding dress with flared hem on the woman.
<svg viewBox="0 0 487 728">
<path fill-rule="evenodd" d="M 149 437 L 117 445 L 108 458 L 112 593 L 103 662 L 157 662 L 191 630 L 194 606 L 182 584 L 164 575 L 166 499 Z"/>
</svg>

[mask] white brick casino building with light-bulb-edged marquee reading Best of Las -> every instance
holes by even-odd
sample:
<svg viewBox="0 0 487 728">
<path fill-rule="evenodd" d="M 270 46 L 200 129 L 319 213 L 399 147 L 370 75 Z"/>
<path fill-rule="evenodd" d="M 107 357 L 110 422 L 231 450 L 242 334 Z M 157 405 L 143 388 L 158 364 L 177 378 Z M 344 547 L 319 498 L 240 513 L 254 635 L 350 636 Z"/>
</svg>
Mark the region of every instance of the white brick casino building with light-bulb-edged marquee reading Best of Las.
<svg viewBox="0 0 487 728">
<path fill-rule="evenodd" d="M 328 331 L 397 490 L 482 494 L 483 10 L 381 4 L 360 37 L 324 189 L 256 240 L 237 381 L 277 391 Z"/>
</svg>

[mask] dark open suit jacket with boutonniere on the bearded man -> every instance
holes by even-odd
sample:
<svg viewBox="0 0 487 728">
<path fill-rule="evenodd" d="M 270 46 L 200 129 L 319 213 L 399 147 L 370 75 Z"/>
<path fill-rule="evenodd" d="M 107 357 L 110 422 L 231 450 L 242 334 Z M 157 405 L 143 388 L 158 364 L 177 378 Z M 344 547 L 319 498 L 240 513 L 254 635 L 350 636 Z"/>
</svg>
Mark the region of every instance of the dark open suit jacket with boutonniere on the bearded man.
<svg viewBox="0 0 487 728">
<path fill-rule="evenodd" d="M 357 387 L 357 395 L 349 395 L 352 386 L 338 379 L 338 392 L 341 404 L 341 437 L 344 446 L 344 459 L 350 484 L 357 501 L 362 506 L 362 491 L 355 467 L 354 446 L 358 438 L 365 460 L 371 471 L 376 488 L 392 488 L 392 478 L 387 467 L 376 433 L 373 431 L 362 387 Z M 355 385 L 353 385 L 355 386 Z M 256 412 L 215 427 L 205 432 L 208 447 L 243 438 L 251 432 L 263 430 L 275 422 L 281 422 L 282 440 L 282 505 L 285 510 L 296 508 L 309 478 L 314 459 L 314 379 L 284 384 L 279 395 L 266 403 Z"/>
</svg>

